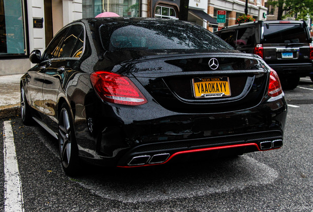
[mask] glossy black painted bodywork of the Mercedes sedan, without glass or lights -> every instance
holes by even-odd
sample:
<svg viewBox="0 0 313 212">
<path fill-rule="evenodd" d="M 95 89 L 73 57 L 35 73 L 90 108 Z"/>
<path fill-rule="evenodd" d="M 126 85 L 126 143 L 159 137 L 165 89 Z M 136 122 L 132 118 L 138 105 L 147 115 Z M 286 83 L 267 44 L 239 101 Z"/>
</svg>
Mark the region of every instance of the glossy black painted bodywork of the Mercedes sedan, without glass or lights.
<svg viewBox="0 0 313 212">
<path fill-rule="evenodd" d="M 75 22 L 85 30 L 81 57 L 43 58 L 21 79 L 31 114 L 55 136 L 60 106 L 64 102 L 69 106 L 81 159 L 127 166 L 138 155 L 282 139 L 287 104 L 283 93 L 267 95 L 269 67 L 262 59 L 235 50 L 159 54 L 108 52 L 102 47 L 99 26 L 138 20 L 145 19 Z M 214 71 L 207 65 L 213 57 L 220 62 Z M 104 102 L 90 80 L 90 74 L 98 70 L 127 76 L 148 103 L 125 106 Z M 229 77 L 232 96 L 192 96 L 192 78 L 221 76 Z"/>
</svg>

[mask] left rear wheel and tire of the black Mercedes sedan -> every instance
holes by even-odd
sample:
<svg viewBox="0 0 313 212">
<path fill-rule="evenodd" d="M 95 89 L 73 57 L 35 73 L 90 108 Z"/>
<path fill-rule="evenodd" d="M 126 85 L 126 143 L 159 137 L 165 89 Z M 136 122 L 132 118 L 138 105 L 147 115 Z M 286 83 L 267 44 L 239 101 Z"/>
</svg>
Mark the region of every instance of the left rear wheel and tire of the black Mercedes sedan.
<svg viewBox="0 0 313 212">
<path fill-rule="evenodd" d="M 59 114 L 58 140 L 60 159 L 65 174 L 74 176 L 78 173 L 80 162 L 69 107 L 66 104 L 63 104 Z"/>
</svg>

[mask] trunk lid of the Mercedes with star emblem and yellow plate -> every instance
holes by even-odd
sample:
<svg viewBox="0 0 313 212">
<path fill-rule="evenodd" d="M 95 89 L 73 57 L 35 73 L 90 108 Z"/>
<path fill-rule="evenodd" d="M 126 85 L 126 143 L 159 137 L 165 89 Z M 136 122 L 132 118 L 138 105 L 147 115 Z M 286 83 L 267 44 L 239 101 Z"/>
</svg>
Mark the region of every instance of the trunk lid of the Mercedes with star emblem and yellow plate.
<svg viewBox="0 0 313 212">
<path fill-rule="evenodd" d="M 181 54 L 122 64 L 161 106 L 219 112 L 258 105 L 268 68 L 252 54 Z M 202 96 L 201 96 L 202 95 Z"/>
</svg>

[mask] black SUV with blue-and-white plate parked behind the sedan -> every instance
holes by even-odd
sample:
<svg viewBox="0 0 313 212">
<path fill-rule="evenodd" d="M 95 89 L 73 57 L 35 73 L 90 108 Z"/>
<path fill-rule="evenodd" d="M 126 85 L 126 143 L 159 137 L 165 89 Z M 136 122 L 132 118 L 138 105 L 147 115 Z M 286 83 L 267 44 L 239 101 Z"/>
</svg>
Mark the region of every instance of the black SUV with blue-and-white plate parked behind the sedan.
<svg viewBox="0 0 313 212">
<path fill-rule="evenodd" d="M 313 45 L 305 21 L 257 21 L 215 32 L 244 53 L 264 59 L 279 75 L 283 88 L 297 87 L 300 77 L 313 80 Z"/>
</svg>

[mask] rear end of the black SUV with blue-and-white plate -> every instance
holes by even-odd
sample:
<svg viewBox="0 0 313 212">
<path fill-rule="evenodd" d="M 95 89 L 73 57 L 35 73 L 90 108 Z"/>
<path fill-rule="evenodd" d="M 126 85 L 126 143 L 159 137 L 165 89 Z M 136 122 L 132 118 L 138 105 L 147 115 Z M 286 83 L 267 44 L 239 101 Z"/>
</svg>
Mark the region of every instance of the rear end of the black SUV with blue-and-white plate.
<svg viewBox="0 0 313 212">
<path fill-rule="evenodd" d="M 305 21 L 264 21 L 260 36 L 254 53 L 278 73 L 284 88 L 295 88 L 299 77 L 313 73 L 312 39 Z"/>
</svg>

